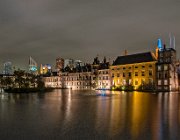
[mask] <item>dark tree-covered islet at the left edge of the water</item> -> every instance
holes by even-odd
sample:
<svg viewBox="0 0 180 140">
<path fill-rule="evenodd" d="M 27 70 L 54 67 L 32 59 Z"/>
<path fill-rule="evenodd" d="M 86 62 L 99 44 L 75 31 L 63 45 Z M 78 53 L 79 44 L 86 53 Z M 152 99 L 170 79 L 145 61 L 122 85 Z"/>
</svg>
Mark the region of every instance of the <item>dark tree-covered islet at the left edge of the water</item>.
<svg viewBox="0 0 180 140">
<path fill-rule="evenodd" d="M 34 93 L 52 91 L 45 87 L 40 75 L 15 70 L 11 76 L 0 77 L 0 88 L 7 93 Z"/>
</svg>

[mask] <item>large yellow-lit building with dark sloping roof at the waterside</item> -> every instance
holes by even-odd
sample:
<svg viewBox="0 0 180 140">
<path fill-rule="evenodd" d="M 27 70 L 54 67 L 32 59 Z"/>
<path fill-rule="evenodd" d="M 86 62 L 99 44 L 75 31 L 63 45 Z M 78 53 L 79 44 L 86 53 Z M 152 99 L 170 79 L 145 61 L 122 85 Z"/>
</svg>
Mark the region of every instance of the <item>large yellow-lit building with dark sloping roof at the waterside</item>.
<svg viewBox="0 0 180 140">
<path fill-rule="evenodd" d="M 156 57 L 151 52 L 119 56 L 110 67 L 112 86 L 152 86 L 156 80 Z"/>
</svg>

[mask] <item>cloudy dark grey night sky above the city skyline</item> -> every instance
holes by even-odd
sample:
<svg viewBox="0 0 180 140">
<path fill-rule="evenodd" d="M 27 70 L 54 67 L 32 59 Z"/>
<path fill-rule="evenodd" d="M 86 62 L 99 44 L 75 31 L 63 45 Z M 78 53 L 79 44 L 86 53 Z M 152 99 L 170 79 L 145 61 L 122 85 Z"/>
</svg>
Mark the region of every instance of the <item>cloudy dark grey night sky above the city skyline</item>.
<svg viewBox="0 0 180 140">
<path fill-rule="evenodd" d="M 152 51 L 169 33 L 180 53 L 180 0 L 0 0 L 1 67 L 26 68 L 29 56 L 113 60 L 125 49 Z"/>
</svg>

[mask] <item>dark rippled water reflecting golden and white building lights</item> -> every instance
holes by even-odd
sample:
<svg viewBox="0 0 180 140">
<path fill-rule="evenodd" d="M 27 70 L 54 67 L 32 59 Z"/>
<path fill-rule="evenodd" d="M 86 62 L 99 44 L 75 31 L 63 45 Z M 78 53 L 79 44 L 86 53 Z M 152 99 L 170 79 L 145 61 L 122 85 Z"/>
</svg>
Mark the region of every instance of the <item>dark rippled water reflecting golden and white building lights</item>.
<svg viewBox="0 0 180 140">
<path fill-rule="evenodd" d="M 180 94 L 0 93 L 0 140 L 180 139 Z"/>
</svg>

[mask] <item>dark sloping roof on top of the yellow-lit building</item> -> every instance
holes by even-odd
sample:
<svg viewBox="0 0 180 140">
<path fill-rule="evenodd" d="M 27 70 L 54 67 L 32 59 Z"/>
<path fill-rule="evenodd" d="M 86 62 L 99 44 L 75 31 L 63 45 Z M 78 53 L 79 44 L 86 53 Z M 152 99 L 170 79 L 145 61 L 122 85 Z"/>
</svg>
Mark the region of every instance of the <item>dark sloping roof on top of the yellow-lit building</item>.
<svg viewBox="0 0 180 140">
<path fill-rule="evenodd" d="M 125 64 L 151 62 L 151 61 L 156 61 L 156 58 L 151 52 L 145 52 L 145 53 L 119 56 L 114 61 L 113 65 L 125 65 Z"/>
</svg>

